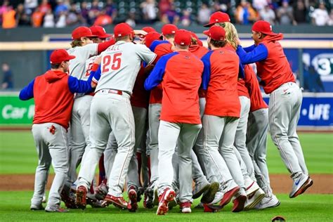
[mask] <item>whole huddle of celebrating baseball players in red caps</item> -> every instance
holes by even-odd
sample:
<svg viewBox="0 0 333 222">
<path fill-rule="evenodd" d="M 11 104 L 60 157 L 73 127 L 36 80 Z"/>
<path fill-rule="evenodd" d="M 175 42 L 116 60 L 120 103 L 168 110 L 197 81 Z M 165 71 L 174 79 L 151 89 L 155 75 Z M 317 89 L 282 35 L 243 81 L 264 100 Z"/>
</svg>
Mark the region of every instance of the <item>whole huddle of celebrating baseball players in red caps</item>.
<svg viewBox="0 0 333 222">
<path fill-rule="evenodd" d="M 30 209 L 44 209 L 51 164 L 48 212 L 67 211 L 61 201 L 136 211 L 142 198 L 157 215 L 177 204 L 190 213 L 199 197 L 197 207 L 210 212 L 229 202 L 233 212 L 278 207 L 268 128 L 294 181 L 289 197 L 313 184 L 296 133 L 302 93 L 282 34 L 259 20 L 254 45 L 242 48 L 228 14 L 214 13 L 205 27 L 208 48 L 170 24 L 160 34 L 120 23 L 113 37 L 103 27 L 77 27 L 72 48 L 51 53 L 51 70 L 20 92 L 35 100 L 39 165 Z"/>
</svg>

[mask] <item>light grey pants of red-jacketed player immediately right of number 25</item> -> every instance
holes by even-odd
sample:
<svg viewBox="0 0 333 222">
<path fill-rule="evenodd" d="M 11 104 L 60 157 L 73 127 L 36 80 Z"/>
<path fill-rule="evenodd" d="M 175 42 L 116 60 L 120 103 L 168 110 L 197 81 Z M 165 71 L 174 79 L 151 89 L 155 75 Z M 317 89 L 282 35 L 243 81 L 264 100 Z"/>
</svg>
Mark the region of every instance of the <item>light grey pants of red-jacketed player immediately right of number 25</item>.
<svg viewBox="0 0 333 222">
<path fill-rule="evenodd" d="M 171 188 L 174 178 L 172 157 L 178 147 L 179 200 L 192 202 L 192 159 L 190 152 L 197 139 L 201 124 L 178 124 L 164 122 L 159 124 L 159 195 Z"/>
</svg>

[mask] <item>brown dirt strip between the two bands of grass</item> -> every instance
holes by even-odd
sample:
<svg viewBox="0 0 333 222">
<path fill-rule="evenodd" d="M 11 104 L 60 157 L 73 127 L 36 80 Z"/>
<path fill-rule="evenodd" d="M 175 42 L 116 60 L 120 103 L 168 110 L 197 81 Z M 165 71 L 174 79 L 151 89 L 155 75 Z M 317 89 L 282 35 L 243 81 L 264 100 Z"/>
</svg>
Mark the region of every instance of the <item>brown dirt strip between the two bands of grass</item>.
<svg viewBox="0 0 333 222">
<path fill-rule="evenodd" d="M 333 194 L 332 174 L 313 174 L 313 187 L 307 193 Z M 47 188 L 51 186 L 53 175 L 48 178 Z M 292 188 L 292 179 L 285 174 L 270 175 L 270 183 L 275 193 L 289 193 Z M 34 190 L 34 175 L 0 175 L 0 190 Z"/>
</svg>

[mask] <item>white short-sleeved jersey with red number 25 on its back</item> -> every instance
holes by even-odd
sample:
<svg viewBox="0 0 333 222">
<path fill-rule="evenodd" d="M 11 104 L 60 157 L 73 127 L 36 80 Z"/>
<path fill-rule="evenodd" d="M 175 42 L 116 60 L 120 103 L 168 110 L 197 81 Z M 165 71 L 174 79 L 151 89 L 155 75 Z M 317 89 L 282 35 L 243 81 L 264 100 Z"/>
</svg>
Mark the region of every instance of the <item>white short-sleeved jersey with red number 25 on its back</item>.
<svg viewBox="0 0 333 222">
<path fill-rule="evenodd" d="M 141 62 L 152 63 L 156 54 L 141 44 L 117 41 L 105 50 L 100 63 L 100 79 L 96 91 L 116 89 L 131 94 Z"/>
</svg>

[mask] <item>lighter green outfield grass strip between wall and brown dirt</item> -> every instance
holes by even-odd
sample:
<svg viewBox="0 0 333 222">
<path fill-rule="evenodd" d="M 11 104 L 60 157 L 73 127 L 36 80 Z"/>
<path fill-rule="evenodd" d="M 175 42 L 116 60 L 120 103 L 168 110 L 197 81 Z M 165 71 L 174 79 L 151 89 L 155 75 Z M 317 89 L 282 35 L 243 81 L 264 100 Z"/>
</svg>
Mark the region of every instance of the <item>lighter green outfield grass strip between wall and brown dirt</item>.
<svg viewBox="0 0 333 222">
<path fill-rule="evenodd" d="M 311 174 L 333 174 L 332 133 L 299 133 Z M 268 138 L 270 174 L 288 174 L 280 153 Z M 34 174 L 37 151 L 31 131 L 0 131 L 0 174 Z"/>
</svg>

